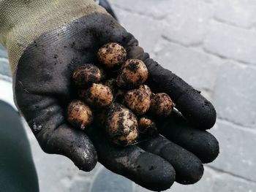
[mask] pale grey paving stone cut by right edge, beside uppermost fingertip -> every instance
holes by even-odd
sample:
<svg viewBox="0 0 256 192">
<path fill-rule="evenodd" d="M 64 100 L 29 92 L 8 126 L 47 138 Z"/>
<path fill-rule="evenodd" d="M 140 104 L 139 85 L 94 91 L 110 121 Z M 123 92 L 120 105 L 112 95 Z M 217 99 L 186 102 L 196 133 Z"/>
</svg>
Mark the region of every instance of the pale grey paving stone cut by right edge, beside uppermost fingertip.
<svg viewBox="0 0 256 192">
<path fill-rule="evenodd" d="M 256 69 L 228 62 L 217 78 L 213 103 L 219 118 L 256 128 Z"/>
</svg>

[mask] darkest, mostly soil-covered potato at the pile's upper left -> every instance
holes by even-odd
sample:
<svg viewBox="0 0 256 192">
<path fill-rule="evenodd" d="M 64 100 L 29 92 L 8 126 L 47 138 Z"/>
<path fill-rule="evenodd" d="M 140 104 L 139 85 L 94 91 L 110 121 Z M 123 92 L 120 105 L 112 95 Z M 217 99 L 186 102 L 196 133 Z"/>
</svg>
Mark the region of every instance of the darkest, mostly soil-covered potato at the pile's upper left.
<svg viewBox="0 0 256 192">
<path fill-rule="evenodd" d="M 89 88 L 92 83 L 97 83 L 102 79 L 102 72 L 94 64 L 84 64 L 75 69 L 72 78 L 78 88 Z"/>
</svg>

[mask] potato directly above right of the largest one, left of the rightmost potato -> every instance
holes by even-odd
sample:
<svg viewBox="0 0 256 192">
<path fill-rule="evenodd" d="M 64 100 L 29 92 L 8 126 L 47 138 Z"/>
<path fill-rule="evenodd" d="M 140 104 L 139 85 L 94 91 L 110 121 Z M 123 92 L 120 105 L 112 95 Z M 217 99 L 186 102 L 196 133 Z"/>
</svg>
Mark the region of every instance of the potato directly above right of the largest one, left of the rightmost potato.
<svg viewBox="0 0 256 192">
<path fill-rule="evenodd" d="M 124 104 L 136 115 L 144 115 L 149 110 L 151 100 L 145 90 L 135 89 L 125 94 Z"/>
</svg>

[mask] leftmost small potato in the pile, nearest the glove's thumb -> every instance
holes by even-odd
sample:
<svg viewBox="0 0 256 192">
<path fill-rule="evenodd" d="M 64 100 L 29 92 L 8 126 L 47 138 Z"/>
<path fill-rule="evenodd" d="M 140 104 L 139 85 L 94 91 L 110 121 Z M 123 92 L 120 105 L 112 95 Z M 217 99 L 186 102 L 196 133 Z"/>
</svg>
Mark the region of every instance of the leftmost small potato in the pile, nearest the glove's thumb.
<svg viewBox="0 0 256 192">
<path fill-rule="evenodd" d="M 75 100 L 69 103 L 67 107 L 67 121 L 76 128 L 85 129 L 91 124 L 93 114 L 90 107 L 82 101 Z"/>
</svg>

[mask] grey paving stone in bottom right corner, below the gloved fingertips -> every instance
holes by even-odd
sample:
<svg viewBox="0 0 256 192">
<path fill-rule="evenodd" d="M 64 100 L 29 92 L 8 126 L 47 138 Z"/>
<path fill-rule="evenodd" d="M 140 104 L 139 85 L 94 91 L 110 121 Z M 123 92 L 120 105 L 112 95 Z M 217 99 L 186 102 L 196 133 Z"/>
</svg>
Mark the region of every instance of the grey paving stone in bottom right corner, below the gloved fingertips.
<svg viewBox="0 0 256 192">
<path fill-rule="evenodd" d="M 255 192 L 256 184 L 241 180 L 230 174 L 215 172 L 205 167 L 203 178 L 195 185 L 180 185 L 174 183 L 173 186 L 165 192 L 184 192 L 184 191 L 225 191 L 225 192 Z M 136 192 L 149 192 L 145 188 L 136 186 Z"/>
</svg>

